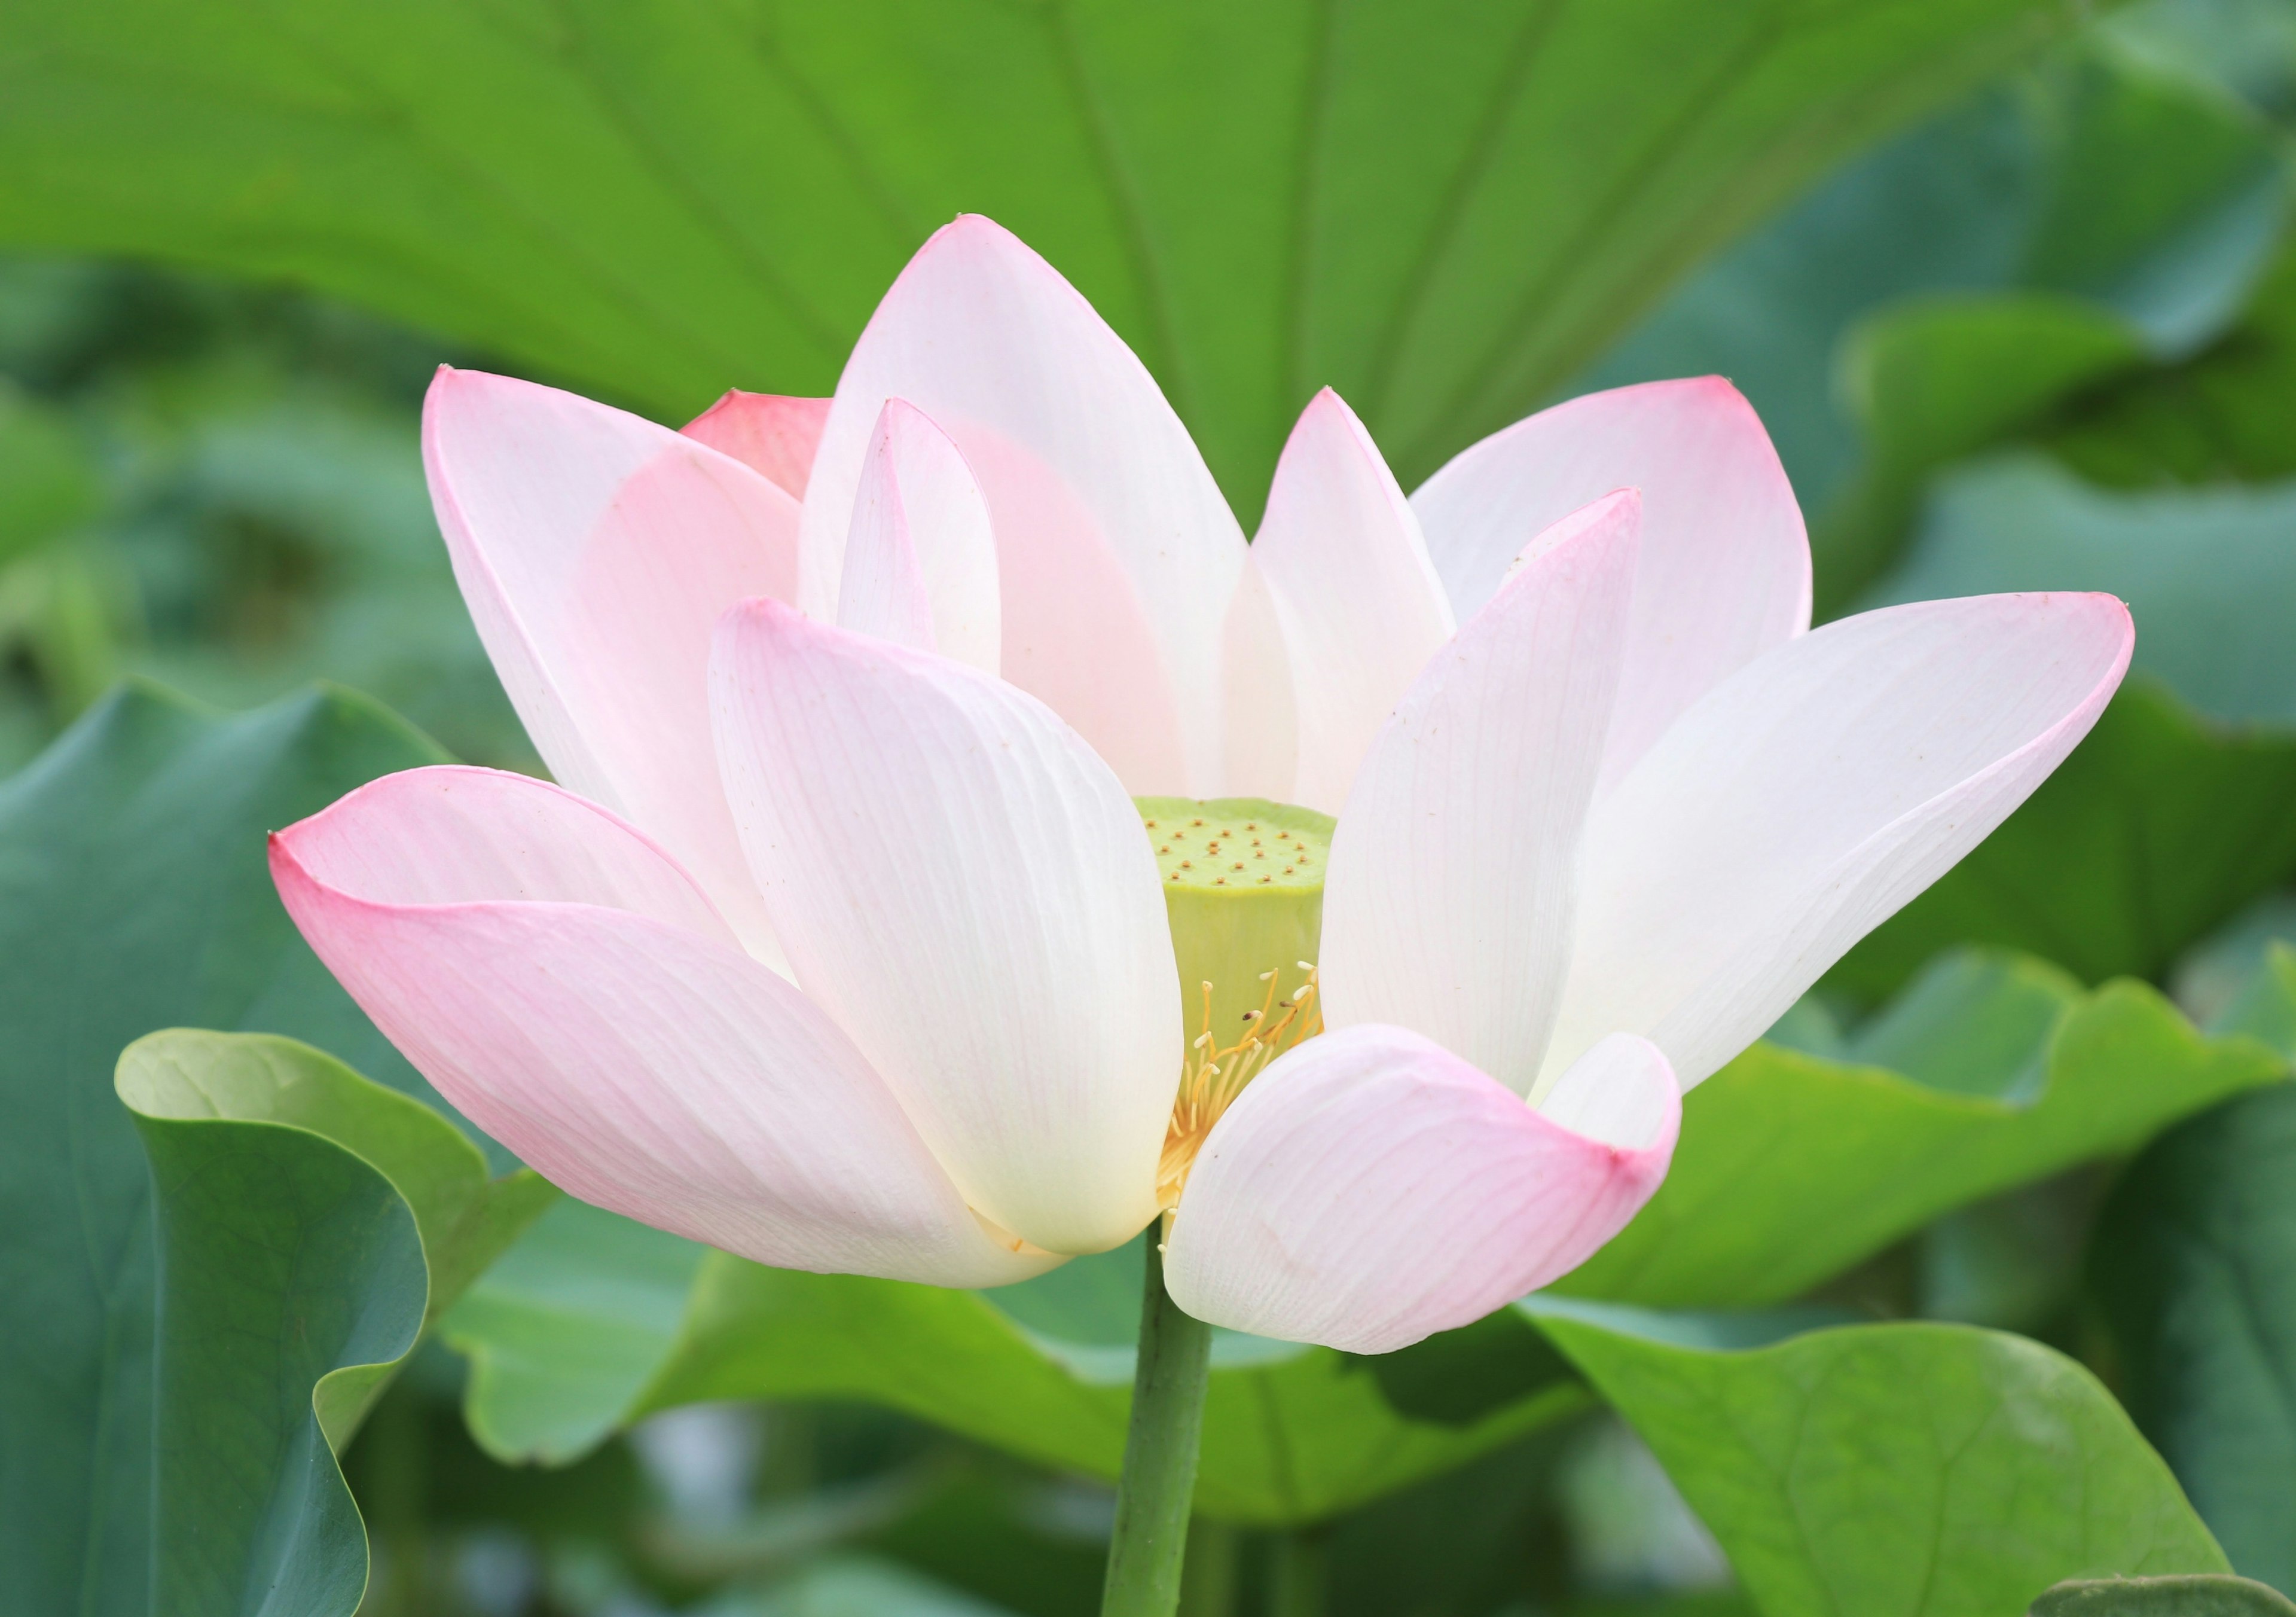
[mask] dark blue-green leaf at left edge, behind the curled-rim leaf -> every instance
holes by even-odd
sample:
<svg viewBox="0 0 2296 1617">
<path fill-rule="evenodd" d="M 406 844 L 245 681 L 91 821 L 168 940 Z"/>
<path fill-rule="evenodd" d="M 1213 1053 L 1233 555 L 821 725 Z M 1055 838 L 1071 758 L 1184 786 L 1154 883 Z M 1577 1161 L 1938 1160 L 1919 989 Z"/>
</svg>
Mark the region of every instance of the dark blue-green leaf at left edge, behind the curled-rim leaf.
<svg viewBox="0 0 2296 1617">
<path fill-rule="evenodd" d="M 312 691 L 124 689 L 0 783 L 0 1610 L 149 1606 L 152 1171 L 113 1093 L 158 1027 L 310 1038 L 427 1096 L 296 937 L 264 831 L 439 753 Z"/>
</svg>

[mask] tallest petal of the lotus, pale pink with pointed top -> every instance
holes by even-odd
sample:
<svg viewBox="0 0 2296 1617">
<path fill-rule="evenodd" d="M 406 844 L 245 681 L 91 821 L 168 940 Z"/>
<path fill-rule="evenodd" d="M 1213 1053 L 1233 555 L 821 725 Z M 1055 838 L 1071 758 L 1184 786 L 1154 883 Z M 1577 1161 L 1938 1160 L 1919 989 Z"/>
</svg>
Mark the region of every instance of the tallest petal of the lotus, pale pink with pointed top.
<svg viewBox="0 0 2296 1617">
<path fill-rule="evenodd" d="M 1003 675 L 1134 792 L 1219 790 L 1219 634 L 1244 542 L 1148 370 L 985 218 L 939 230 L 838 379 L 806 492 L 806 609 L 833 618 L 845 528 L 889 397 L 980 478 L 1003 572 Z"/>
</svg>

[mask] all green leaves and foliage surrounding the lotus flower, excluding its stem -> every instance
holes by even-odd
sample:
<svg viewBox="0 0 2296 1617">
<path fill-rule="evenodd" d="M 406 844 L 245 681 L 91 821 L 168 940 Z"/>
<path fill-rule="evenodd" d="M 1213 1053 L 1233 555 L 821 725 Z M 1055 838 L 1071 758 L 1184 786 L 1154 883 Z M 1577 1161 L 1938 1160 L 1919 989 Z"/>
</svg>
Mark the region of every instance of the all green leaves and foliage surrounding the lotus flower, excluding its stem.
<svg viewBox="0 0 2296 1617">
<path fill-rule="evenodd" d="M 2291 0 L 30 0 L 0 85 L 0 1606 L 1095 1608 L 1137 1254 L 941 1293 L 556 1199 L 262 873 L 372 774 L 540 767 L 434 363 L 822 393 L 980 209 L 1247 526 L 1320 384 L 1410 485 L 1720 370 L 1821 613 L 2140 627 L 1566 1295 L 1219 1339 L 1192 1617 L 2285 1610 Z M 2117 1573 L 2179 1578 L 2043 1599 Z"/>
</svg>

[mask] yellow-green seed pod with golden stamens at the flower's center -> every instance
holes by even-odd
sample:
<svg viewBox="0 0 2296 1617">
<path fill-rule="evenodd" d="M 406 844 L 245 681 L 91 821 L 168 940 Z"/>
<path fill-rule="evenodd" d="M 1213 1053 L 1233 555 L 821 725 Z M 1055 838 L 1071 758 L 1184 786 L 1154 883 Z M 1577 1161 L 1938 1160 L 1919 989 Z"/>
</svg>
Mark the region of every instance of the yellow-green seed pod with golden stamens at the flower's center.
<svg viewBox="0 0 2296 1617">
<path fill-rule="evenodd" d="M 1164 875 L 1192 1029 L 1164 1132 L 1157 1197 L 1180 1201 L 1219 1114 L 1279 1054 L 1322 1031 L 1316 946 L 1332 818 L 1256 797 L 1141 797 Z"/>
</svg>

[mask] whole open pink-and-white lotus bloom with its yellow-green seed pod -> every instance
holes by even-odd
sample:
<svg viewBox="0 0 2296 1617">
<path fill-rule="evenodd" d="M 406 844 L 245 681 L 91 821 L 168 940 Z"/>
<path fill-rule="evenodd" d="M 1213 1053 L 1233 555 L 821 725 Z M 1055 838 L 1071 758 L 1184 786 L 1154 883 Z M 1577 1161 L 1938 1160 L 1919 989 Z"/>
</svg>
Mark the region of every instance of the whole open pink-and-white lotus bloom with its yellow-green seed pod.
<svg viewBox="0 0 2296 1617">
<path fill-rule="evenodd" d="M 776 1266 L 990 1286 L 1169 1210 L 1187 1312 L 1352 1351 L 1607 1240 L 1681 1089 L 2131 650 L 2096 595 L 1807 632 L 1720 379 L 1554 407 L 1410 501 L 1320 393 L 1247 547 L 1139 361 L 978 218 L 833 400 L 677 434 L 448 370 L 425 457 L 563 786 L 388 776 L 273 873 L 455 1105 Z"/>
</svg>

